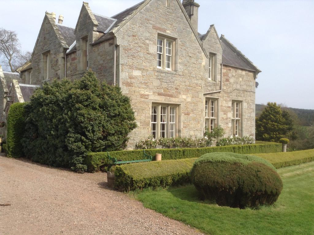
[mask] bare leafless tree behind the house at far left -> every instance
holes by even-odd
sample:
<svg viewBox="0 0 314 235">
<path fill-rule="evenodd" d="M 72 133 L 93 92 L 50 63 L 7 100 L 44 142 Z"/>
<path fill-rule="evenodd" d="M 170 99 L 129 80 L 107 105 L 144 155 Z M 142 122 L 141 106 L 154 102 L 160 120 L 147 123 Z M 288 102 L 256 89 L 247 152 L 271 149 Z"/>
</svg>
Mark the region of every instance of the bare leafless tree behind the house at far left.
<svg viewBox="0 0 314 235">
<path fill-rule="evenodd" d="M 4 67 L 15 72 L 17 68 L 30 60 L 31 52 L 21 51 L 21 44 L 15 31 L 0 28 L 0 59 Z"/>
</svg>

